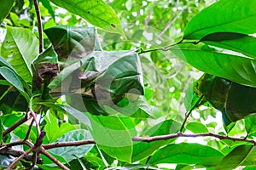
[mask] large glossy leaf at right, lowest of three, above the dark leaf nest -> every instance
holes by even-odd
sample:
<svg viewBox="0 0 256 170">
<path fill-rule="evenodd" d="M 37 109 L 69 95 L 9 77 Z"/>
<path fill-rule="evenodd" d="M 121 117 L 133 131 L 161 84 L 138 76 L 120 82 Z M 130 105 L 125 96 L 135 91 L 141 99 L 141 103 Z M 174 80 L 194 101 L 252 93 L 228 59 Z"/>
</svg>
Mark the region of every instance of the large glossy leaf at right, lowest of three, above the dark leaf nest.
<svg viewBox="0 0 256 170">
<path fill-rule="evenodd" d="M 206 44 L 182 43 L 171 48 L 173 54 L 208 74 L 256 87 L 256 60 L 240 54 L 226 54 Z"/>
</svg>

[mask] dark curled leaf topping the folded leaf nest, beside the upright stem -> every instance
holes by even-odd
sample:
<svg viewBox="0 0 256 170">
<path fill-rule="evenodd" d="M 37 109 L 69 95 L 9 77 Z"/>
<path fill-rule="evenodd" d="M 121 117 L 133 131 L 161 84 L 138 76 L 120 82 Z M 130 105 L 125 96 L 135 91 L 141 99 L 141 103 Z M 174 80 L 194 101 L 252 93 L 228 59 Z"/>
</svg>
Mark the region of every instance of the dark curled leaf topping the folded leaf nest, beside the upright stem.
<svg viewBox="0 0 256 170">
<path fill-rule="evenodd" d="M 102 51 L 95 27 L 54 26 L 44 32 L 61 61 L 81 59 L 92 51 Z"/>
</svg>

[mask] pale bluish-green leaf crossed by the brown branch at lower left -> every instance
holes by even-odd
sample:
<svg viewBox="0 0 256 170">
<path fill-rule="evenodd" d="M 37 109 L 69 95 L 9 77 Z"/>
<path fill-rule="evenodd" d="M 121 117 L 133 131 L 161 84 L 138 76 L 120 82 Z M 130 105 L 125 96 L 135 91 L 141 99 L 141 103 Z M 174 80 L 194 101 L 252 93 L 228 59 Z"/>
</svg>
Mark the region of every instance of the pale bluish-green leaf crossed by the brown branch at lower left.
<svg viewBox="0 0 256 170">
<path fill-rule="evenodd" d="M 91 139 L 90 133 L 87 130 L 84 129 L 78 129 L 69 131 L 68 133 L 65 133 L 61 136 L 61 138 L 56 139 L 55 143 L 62 143 L 62 142 L 68 142 L 68 141 L 79 141 L 79 140 L 85 140 L 85 139 Z M 51 153 L 54 153 L 57 156 L 61 156 L 65 158 L 67 161 L 72 161 L 73 159 L 77 159 L 78 157 L 83 157 L 86 155 L 87 152 L 89 152 L 93 147 L 93 144 L 85 144 L 81 146 L 68 146 L 68 147 L 60 147 L 60 148 L 54 148 L 50 149 L 49 151 Z"/>
</svg>

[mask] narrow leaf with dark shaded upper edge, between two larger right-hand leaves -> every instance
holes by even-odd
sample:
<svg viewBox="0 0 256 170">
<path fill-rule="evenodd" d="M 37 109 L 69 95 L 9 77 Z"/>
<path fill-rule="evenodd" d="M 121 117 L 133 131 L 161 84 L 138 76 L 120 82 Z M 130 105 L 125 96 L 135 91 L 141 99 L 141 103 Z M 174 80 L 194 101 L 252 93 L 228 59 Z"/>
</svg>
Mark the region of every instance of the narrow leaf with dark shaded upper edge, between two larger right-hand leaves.
<svg viewBox="0 0 256 170">
<path fill-rule="evenodd" d="M 254 50 L 256 37 L 253 36 L 233 32 L 217 32 L 203 37 L 201 42 L 218 48 L 236 51 L 256 59 L 256 52 Z"/>
</svg>

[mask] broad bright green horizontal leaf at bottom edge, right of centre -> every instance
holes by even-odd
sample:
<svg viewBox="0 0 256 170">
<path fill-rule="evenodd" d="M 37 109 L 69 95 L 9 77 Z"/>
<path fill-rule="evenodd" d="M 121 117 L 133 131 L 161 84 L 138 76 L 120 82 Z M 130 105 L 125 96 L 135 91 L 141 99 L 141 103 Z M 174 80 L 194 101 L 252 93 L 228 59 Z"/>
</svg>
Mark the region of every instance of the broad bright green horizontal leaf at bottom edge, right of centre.
<svg viewBox="0 0 256 170">
<path fill-rule="evenodd" d="M 213 167 L 223 158 L 223 154 L 209 146 L 201 144 L 170 144 L 157 150 L 149 164 L 181 163 Z"/>
</svg>

